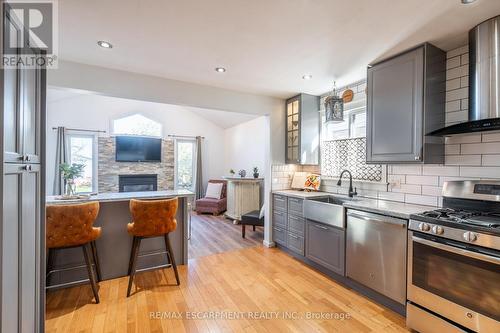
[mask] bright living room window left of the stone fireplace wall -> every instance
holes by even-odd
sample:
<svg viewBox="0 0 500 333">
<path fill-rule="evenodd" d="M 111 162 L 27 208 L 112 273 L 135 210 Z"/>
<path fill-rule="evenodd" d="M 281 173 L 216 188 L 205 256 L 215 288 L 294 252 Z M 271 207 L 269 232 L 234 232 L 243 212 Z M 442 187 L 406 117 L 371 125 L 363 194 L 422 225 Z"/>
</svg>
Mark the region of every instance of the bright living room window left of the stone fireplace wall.
<svg viewBox="0 0 500 333">
<path fill-rule="evenodd" d="M 97 191 L 96 138 L 88 134 L 68 134 L 69 163 L 85 165 L 83 175 L 75 180 L 77 193 Z"/>
</svg>

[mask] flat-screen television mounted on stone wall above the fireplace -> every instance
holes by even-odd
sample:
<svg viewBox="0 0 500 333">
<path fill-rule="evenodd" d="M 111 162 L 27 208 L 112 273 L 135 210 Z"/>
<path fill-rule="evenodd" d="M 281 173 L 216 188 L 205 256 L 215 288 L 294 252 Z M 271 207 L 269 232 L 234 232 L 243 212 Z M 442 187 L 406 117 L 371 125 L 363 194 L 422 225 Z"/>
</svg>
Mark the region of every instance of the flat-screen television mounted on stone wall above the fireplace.
<svg viewBox="0 0 500 333">
<path fill-rule="evenodd" d="M 116 161 L 161 162 L 161 139 L 143 136 L 117 136 Z"/>
</svg>

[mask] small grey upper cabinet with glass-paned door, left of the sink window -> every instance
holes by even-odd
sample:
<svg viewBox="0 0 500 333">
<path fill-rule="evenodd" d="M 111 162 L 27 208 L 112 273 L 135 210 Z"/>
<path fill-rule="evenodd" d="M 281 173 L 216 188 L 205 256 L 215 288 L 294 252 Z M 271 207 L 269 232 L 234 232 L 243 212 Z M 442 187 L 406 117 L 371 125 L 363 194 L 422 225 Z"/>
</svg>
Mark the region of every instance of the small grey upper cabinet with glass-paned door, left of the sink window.
<svg viewBox="0 0 500 333">
<path fill-rule="evenodd" d="M 319 164 L 319 97 L 300 94 L 286 101 L 286 163 Z"/>
</svg>

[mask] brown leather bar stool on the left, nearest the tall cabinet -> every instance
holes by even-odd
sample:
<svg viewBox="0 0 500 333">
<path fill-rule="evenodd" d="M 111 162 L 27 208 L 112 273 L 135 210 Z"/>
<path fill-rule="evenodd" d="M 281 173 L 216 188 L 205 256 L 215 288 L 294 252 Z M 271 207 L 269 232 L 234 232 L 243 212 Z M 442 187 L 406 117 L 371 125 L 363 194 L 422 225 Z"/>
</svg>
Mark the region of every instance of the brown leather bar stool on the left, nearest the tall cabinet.
<svg viewBox="0 0 500 333">
<path fill-rule="evenodd" d="M 101 281 L 101 268 L 95 240 L 101 236 L 102 230 L 93 225 L 98 213 L 99 202 L 49 205 L 46 208 L 47 282 L 52 273 L 59 271 L 52 270 L 55 251 L 81 247 L 96 303 L 99 303 L 99 294 L 93 265 L 96 267 L 98 281 Z"/>
</svg>

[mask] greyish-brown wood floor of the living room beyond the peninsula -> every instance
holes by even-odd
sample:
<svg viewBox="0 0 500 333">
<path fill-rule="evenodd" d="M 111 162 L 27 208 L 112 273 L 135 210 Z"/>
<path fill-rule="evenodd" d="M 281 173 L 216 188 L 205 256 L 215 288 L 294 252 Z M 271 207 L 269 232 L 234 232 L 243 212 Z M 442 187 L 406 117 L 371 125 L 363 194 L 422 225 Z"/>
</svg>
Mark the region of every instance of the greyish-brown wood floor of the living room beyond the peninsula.
<svg viewBox="0 0 500 333">
<path fill-rule="evenodd" d="M 252 231 L 251 226 L 247 226 L 246 229 L 246 236 L 242 238 L 241 225 L 233 224 L 232 220 L 222 215 L 197 215 L 193 212 L 188 257 L 193 259 L 261 245 L 264 239 L 264 229 L 257 227 L 255 232 Z"/>
</svg>

